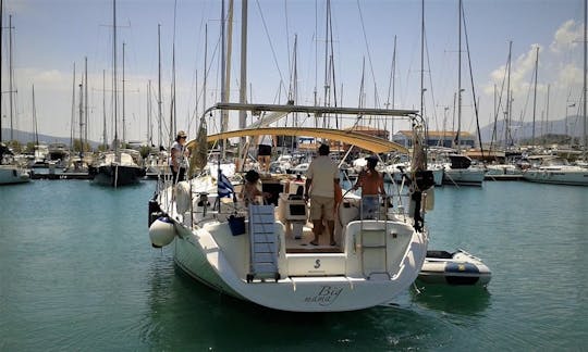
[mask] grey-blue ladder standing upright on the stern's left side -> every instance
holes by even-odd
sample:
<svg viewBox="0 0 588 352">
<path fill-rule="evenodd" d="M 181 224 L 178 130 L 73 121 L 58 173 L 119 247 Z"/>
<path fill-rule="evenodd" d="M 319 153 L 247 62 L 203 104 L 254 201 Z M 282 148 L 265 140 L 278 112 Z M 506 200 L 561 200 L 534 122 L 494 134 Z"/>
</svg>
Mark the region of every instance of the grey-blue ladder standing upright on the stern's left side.
<svg viewBox="0 0 588 352">
<path fill-rule="evenodd" d="M 280 279 L 278 252 L 280 239 L 275 234 L 274 205 L 249 205 L 250 272 L 247 282 L 259 277 Z"/>
</svg>

